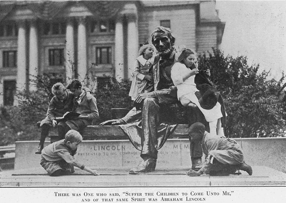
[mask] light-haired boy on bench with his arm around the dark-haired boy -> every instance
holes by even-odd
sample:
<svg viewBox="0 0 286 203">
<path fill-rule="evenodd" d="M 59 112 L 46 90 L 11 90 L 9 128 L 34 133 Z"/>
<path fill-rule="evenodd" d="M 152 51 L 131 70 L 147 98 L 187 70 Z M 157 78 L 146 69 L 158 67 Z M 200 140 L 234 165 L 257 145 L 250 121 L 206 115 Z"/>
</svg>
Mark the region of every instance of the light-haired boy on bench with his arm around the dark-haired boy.
<svg viewBox="0 0 286 203">
<path fill-rule="evenodd" d="M 57 125 L 56 117 L 61 117 L 67 111 L 72 110 L 74 95 L 72 92 L 67 90 L 63 84 L 60 82 L 56 83 L 52 87 L 52 93 L 54 97 L 51 99 L 49 103 L 49 107 L 47 110 L 47 117 L 41 121 L 41 136 L 40 143 L 38 146 L 38 150 L 35 154 L 41 154 L 41 151 L 44 147 L 44 142 L 46 137 L 49 134 L 49 128 L 51 126 L 55 127 Z M 90 94 L 89 88 L 84 88 L 86 91 L 86 96 L 88 100 L 91 100 L 92 95 Z M 51 143 L 54 141 L 58 141 L 59 139 L 56 137 L 51 137 Z"/>
</svg>

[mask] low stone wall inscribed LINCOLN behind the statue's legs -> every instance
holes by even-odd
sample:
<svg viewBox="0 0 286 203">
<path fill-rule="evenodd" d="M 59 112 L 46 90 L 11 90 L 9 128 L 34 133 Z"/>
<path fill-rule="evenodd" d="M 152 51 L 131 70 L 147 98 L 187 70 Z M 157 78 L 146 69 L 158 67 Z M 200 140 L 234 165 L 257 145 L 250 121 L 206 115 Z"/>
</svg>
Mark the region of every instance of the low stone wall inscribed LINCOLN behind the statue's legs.
<svg viewBox="0 0 286 203">
<path fill-rule="evenodd" d="M 235 138 L 241 145 L 244 158 L 251 166 L 266 166 L 286 172 L 286 138 Z M 38 141 L 17 141 L 15 170 L 40 167 L 41 155 L 36 155 Z M 46 141 L 45 145 L 49 142 Z M 157 169 L 188 168 L 191 166 L 190 141 L 168 139 L 158 151 Z M 140 151 L 129 140 L 83 141 L 75 158 L 97 169 L 129 170 L 142 160 Z"/>
</svg>

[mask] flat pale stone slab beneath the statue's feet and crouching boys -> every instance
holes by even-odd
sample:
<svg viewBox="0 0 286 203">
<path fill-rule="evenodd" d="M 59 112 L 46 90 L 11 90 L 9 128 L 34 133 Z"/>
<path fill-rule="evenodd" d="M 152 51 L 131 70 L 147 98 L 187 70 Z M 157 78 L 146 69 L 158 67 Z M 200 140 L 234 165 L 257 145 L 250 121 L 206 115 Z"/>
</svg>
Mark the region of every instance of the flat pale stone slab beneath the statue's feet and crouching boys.
<svg viewBox="0 0 286 203">
<path fill-rule="evenodd" d="M 95 169 L 95 167 L 92 167 Z M 157 169 L 147 174 L 128 174 L 128 170 L 100 169 L 100 176 L 76 169 L 74 174 L 50 177 L 43 168 L 0 172 L 1 187 L 116 187 L 116 186 L 285 186 L 286 174 L 277 170 L 253 166 L 253 175 L 188 177 L 188 168 Z"/>
</svg>

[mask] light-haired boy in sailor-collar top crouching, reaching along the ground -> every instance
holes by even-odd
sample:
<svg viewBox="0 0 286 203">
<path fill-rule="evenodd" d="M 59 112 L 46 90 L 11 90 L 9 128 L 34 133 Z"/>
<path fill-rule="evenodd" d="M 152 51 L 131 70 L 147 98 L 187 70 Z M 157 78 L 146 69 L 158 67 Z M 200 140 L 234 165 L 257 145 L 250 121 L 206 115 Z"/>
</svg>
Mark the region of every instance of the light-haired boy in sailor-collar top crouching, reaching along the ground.
<svg viewBox="0 0 286 203">
<path fill-rule="evenodd" d="M 92 170 L 74 159 L 78 145 L 82 142 L 82 136 L 78 131 L 69 130 L 65 139 L 54 142 L 42 150 L 41 166 L 49 176 L 61 176 L 74 172 L 74 166 L 98 176 L 96 170 Z"/>
</svg>

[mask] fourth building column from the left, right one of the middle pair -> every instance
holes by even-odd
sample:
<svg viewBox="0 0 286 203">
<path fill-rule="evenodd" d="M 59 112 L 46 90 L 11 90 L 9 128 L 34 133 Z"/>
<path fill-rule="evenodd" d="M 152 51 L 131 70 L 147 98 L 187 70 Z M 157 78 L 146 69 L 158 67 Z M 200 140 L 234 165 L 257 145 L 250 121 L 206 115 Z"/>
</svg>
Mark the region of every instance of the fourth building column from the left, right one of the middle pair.
<svg viewBox="0 0 286 203">
<path fill-rule="evenodd" d="M 84 82 L 87 70 L 86 17 L 78 18 L 78 80 Z"/>
</svg>

